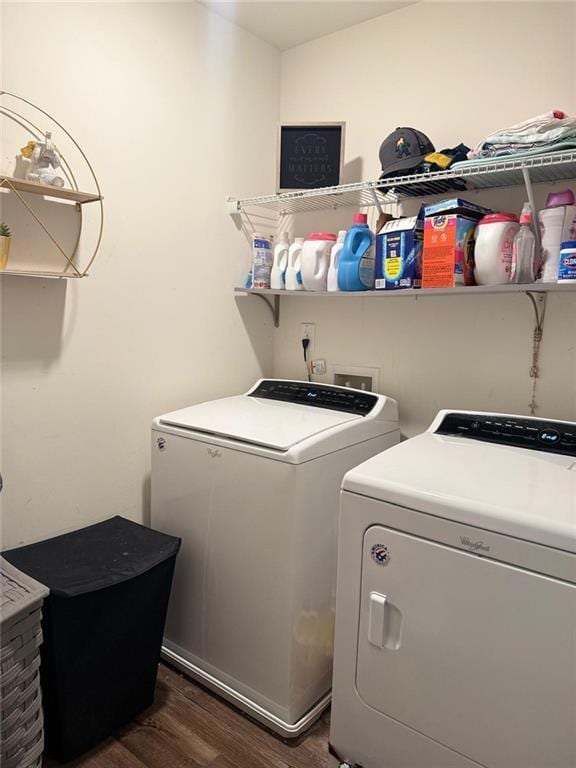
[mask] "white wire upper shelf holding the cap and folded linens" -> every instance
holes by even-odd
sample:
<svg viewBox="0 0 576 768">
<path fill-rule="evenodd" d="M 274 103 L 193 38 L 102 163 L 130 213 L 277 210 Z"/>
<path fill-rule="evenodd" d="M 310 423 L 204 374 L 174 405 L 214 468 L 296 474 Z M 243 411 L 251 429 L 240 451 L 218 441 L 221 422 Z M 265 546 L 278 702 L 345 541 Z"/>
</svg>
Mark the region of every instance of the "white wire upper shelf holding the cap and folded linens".
<svg viewBox="0 0 576 768">
<path fill-rule="evenodd" d="M 260 197 L 228 198 L 231 213 L 268 209 L 281 216 L 338 208 L 386 206 L 405 199 L 460 191 L 513 187 L 524 183 L 528 171 L 533 183 L 576 179 L 576 150 L 551 152 L 533 157 L 509 157 L 493 162 L 479 161 L 464 168 L 434 173 L 396 176 L 381 181 L 361 181 L 337 187 L 281 192 Z M 455 186 L 458 181 L 461 189 Z"/>
</svg>

